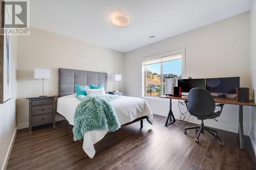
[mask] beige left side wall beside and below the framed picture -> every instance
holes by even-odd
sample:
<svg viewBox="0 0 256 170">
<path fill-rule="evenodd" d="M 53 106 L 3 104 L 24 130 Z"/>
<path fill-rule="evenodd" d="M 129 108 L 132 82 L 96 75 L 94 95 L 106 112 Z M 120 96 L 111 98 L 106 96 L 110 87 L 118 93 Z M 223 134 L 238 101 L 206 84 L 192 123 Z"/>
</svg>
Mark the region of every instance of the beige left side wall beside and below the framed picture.
<svg viewBox="0 0 256 170">
<path fill-rule="evenodd" d="M 17 66 L 17 38 L 11 36 L 11 99 L 0 104 L 0 169 L 4 168 L 13 135 L 16 130 L 16 66 Z"/>
</svg>

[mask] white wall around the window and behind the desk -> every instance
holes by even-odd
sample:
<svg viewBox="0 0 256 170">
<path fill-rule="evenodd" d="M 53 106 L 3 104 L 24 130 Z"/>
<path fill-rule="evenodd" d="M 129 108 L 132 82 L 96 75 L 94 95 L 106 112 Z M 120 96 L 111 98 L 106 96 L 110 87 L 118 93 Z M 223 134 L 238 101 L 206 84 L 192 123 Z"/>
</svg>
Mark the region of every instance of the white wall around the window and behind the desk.
<svg viewBox="0 0 256 170">
<path fill-rule="evenodd" d="M 142 96 L 142 58 L 185 48 L 185 77 L 240 76 L 241 86 L 250 87 L 249 12 L 171 37 L 125 54 L 125 93 Z M 167 116 L 168 100 L 144 98 L 155 114 Z M 184 109 L 184 108 L 183 108 Z M 244 130 L 249 131 L 249 107 L 244 107 Z M 176 118 L 180 112 L 173 102 Z M 222 115 L 206 125 L 238 131 L 238 106 L 225 105 Z M 193 118 L 194 123 L 199 123 Z"/>
</svg>

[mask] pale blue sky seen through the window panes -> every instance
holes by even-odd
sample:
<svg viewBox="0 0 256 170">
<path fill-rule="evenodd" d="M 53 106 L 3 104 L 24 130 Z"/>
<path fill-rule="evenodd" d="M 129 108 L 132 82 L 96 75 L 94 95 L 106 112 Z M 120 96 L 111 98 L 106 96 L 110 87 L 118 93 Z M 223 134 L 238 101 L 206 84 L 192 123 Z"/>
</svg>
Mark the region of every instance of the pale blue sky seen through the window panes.
<svg viewBox="0 0 256 170">
<path fill-rule="evenodd" d="M 146 69 L 156 72 L 157 74 L 161 73 L 160 63 L 147 65 Z M 181 75 L 181 60 L 168 61 L 163 63 L 163 74 L 174 74 Z"/>
</svg>

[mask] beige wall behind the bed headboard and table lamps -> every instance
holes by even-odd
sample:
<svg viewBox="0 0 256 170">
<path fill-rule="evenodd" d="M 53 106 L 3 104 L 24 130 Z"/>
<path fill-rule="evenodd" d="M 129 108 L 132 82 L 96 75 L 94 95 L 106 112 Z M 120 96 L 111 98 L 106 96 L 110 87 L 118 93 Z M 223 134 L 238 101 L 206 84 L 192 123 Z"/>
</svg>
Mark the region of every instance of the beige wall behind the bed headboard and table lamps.
<svg viewBox="0 0 256 170">
<path fill-rule="evenodd" d="M 107 72 L 124 75 L 124 54 L 109 48 L 83 42 L 66 36 L 31 28 L 30 36 L 18 37 L 17 61 L 17 124 L 28 127 L 28 96 L 41 94 L 41 80 L 33 79 L 34 68 L 51 69 L 51 79 L 45 80 L 45 93 L 58 94 L 58 68 Z M 125 79 L 125 77 L 123 77 Z M 124 90 L 124 81 L 118 89 Z M 115 82 L 108 80 L 108 90 Z"/>
</svg>

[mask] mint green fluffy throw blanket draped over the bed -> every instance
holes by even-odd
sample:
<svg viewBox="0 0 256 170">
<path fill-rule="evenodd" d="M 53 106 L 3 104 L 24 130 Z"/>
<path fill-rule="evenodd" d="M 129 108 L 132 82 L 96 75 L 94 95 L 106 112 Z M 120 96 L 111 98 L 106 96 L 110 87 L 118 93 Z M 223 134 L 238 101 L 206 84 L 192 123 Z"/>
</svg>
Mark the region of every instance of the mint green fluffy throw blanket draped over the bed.
<svg viewBox="0 0 256 170">
<path fill-rule="evenodd" d="M 120 128 L 115 110 L 108 102 L 111 99 L 100 96 L 83 98 L 74 114 L 74 140 L 81 140 L 84 132 L 93 130 L 116 131 Z"/>
</svg>

